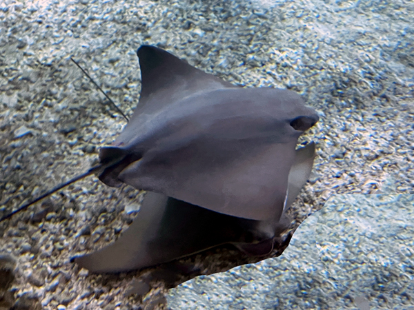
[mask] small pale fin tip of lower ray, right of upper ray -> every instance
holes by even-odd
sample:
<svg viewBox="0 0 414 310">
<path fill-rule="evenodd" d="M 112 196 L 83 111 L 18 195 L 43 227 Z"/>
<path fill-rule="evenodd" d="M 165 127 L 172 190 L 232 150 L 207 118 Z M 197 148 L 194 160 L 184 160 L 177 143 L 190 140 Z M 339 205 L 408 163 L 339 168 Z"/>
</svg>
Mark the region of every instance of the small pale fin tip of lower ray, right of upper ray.
<svg viewBox="0 0 414 310">
<path fill-rule="evenodd" d="M 313 160 L 315 159 L 315 143 L 308 143 L 296 150 L 295 161 L 290 168 L 288 176 L 288 196 L 286 197 L 285 210 L 292 205 L 306 180 L 311 175 Z"/>
</svg>

